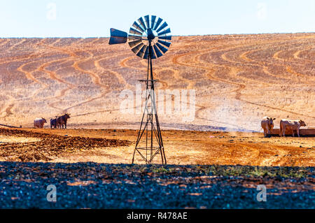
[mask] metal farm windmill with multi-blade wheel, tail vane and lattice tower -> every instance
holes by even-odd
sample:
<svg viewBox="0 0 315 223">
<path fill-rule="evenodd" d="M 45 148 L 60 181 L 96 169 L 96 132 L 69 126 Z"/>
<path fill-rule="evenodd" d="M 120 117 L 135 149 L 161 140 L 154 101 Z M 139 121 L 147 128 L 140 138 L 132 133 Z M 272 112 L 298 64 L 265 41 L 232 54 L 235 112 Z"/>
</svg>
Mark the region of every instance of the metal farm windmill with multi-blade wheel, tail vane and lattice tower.
<svg viewBox="0 0 315 223">
<path fill-rule="evenodd" d="M 154 84 L 158 80 L 153 78 L 152 60 L 162 57 L 169 49 L 172 41 L 171 29 L 160 17 L 146 15 L 132 24 L 129 34 L 118 29 L 111 29 L 110 45 L 127 43 L 127 41 L 135 55 L 148 60 L 146 80 L 140 80 L 146 83 L 146 103 L 132 164 L 136 152 L 146 161 L 146 164 L 152 164 L 153 158 L 160 153 L 162 164 L 167 164 L 156 110 Z"/>
</svg>

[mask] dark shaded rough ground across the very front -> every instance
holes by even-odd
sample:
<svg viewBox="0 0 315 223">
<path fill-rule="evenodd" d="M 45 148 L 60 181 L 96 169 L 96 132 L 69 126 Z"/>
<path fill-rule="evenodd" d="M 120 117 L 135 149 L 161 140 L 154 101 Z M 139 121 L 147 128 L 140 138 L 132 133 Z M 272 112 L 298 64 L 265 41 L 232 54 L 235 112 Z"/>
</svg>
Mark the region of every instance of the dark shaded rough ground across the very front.
<svg viewBox="0 0 315 223">
<path fill-rule="evenodd" d="M 312 167 L 0 162 L 0 208 L 315 208 L 314 177 Z"/>
</svg>

